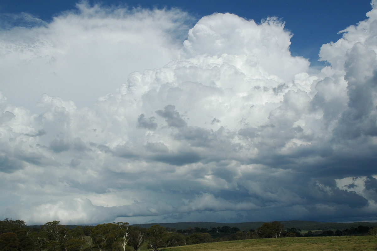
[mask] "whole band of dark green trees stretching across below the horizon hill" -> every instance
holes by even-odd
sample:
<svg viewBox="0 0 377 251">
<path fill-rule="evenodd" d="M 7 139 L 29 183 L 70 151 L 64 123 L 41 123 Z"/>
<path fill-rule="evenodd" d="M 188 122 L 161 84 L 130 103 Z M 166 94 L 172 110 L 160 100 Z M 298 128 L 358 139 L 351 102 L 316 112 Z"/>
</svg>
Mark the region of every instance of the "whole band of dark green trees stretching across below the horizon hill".
<svg viewBox="0 0 377 251">
<path fill-rule="evenodd" d="M 158 250 L 172 246 L 259 238 L 342 236 L 371 234 L 377 227 L 359 226 L 342 231 L 323 230 L 302 233 L 300 229 L 284 228 L 280 222 L 264 223 L 257 229 L 240 231 L 222 226 L 178 229 L 152 225 L 149 229 L 130 226 L 127 222 L 104 223 L 97 226 L 64 226 L 47 222 L 40 228 L 27 227 L 23 220 L 0 221 L 0 250 L 2 251 L 136 251 Z"/>
</svg>

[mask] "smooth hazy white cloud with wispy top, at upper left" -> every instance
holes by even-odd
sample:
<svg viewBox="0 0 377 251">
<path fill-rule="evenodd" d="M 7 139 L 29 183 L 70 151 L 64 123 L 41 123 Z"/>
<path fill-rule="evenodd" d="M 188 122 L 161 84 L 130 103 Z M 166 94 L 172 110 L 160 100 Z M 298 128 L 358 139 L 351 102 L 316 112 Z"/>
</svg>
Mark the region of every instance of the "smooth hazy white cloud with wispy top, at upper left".
<svg viewBox="0 0 377 251">
<path fill-rule="evenodd" d="M 2 29 L 2 91 L 29 107 L 43 93 L 91 106 L 129 73 L 178 59 L 179 39 L 192 22 L 178 9 L 90 6 L 86 1 L 50 23 L 12 16 L 22 27 Z"/>
</svg>

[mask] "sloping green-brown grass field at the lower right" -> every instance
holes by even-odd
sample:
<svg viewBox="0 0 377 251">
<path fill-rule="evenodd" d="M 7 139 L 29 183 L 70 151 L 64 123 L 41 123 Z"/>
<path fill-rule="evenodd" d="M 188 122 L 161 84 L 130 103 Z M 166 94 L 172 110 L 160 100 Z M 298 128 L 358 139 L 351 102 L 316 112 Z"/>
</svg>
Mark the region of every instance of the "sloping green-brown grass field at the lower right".
<svg viewBox="0 0 377 251">
<path fill-rule="evenodd" d="M 198 245 L 163 248 L 165 251 L 226 251 L 226 250 L 300 250 L 300 251 L 332 251 L 332 250 L 377 250 L 375 236 L 340 236 L 340 237 L 300 237 L 279 239 L 236 240 L 214 242 Z"/>
</svg>

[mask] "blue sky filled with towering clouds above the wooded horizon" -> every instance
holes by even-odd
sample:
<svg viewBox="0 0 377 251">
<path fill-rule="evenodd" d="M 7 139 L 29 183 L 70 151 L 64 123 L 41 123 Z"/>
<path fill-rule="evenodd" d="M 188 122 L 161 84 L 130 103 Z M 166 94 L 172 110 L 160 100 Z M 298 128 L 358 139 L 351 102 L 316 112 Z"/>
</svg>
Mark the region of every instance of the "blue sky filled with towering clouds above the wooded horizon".
<svg viewBox="0 0 377 251">
<path fill-rule="evenodd" d="M 0 218 L 375 221 L 377 0 L 243 2 L 3 0 Z"/>
</svg>

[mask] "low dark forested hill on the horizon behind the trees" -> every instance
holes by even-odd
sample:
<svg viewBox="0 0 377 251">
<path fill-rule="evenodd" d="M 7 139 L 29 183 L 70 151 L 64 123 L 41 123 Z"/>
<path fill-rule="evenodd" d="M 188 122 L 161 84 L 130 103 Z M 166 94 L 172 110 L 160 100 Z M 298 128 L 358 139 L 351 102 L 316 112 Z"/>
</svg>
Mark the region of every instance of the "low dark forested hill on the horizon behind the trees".
<svg viewBox="0 0 377 251">
<path fill-rule="evenodd" d="M 297 228 L 302 231 L 312 231 L 312 230 L 333 230 L 339 229 L 343 230 L 346 228 L 357 228 L 358 226 L 377 226 L 377 222 L 353 222 L 353 223 L 338 223 L 338 222 L 315 222 L 315 221 L 305 221 L 305 220 L 282 220 L 279 221 L 284 225 L 284 228 Z M 146 223 L 146 224 L 134 224 L 132 226 L 140 226 L 142 228 L 150 228 L 152 225 L 160 225 L 165 228 L 175 228 L 175 229 L 187 229 L 187 228 L 217 228 L 222 226 L 230 226 L 231 228 L 236 227 L 240 230 L 257 229 L 263 225 L 265 222 L 240 222 L 240 223 L 219 223 L 219 222 L 176 222 L 176 223 Z"/>
</svg>

